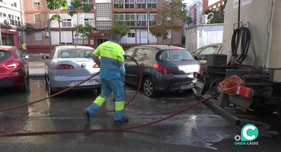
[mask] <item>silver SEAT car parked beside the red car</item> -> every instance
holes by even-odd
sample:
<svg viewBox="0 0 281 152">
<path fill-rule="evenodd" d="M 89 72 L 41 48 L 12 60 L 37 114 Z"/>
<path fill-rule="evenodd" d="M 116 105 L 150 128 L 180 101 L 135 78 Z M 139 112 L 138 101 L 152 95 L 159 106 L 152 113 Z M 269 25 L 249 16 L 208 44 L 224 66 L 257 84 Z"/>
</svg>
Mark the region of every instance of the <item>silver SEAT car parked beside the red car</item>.
<svg viewBox="0 0 281 152">
<path fill-rule="evenodd" d="M 94 49 L 83 46 L 59 46 L 55 47 L 45 62 L 45 80 L 49 88 L 49 94 L 62 91 L 79 84 L 93 74 L 100 71 L 100 67 L 92 59 Z M 100 75 L 91 78 L 83 84 L 73 88 L 100 89 Z"/>
</svg>

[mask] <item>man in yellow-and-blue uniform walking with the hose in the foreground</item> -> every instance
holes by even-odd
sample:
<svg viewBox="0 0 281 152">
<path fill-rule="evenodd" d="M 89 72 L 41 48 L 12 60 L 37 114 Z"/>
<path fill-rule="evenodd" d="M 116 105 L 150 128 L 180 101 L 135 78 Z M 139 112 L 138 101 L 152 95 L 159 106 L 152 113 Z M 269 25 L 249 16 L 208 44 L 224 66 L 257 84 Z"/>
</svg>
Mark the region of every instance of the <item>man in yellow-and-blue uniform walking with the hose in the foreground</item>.
<svg viewBox="0 0 281 152">
<path fill-rule="evenodd" d="M 95 63 L 100 66 L 102 93 L 96 98 L 93 104 L 84 111 L 84 117 L 87 122 L 90 121 L 90 116 L 96 113 L 100 106 L 111 95 L 111 92 L 113 92 L 116 100 L 113 123 L 125 123 L 129 120 L 123 117 L 125 92 L 120 79 L 120 67 L 124 65 L 124 57 L 122 54 L 123 49 L 119 45 L 120 40 L 121 33 L 119 31 L 114 31 L 111 35 L 111 40 L 100 44 L 92 55 Z"/>
</svg>

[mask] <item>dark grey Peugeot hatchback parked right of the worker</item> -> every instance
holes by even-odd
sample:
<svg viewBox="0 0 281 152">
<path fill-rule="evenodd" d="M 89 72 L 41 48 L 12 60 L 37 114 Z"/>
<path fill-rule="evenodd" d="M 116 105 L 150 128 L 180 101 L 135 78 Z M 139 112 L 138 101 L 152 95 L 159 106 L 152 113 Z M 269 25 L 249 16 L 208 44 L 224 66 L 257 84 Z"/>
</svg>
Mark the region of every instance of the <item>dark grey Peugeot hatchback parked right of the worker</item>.
<svg viewBox="0 0 281 152">
<path fill-rule="evenodd" d="M 125 51 L 138 61 L 142 70 L 142 88 L 148 97 L 157 92 L 179 91 L 194 88 L 193 72 L 199 72 L 200 64 L 181 47 L 144 45 Z M 139 70 L 131 59 L 125 60 L 125 82 L 139 85 Z"/>
</svg>

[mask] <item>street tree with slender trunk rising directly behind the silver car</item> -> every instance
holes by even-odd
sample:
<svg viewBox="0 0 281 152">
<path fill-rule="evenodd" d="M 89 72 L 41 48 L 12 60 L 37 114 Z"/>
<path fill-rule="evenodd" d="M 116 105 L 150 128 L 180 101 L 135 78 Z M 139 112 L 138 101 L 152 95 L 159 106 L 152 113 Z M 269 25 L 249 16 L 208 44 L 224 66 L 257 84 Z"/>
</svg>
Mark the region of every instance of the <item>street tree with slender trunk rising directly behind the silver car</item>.
<svg viewBox="0 0 281 152">
<path fill-rule="evenodd" d="M 91 8 L 89 7 L 89 5 L 86 4 L 86 0 L 72 0 L 70 5 L 74 8 L 74 10 L 70 10 L 68 12 L 68 15 L 73 17 L 74 15 L 77 15 L 77 28 L 76 28 L 76 45 L 78 43 L 78 33 L 79 33 L 79 22 L 80 20 L 86 18 L 85 17 L 81 17 L 82 13 L 79 13 L 77 10 L 83 10 L 83 12 L 89 13 L 91 12 Z"/>
</svg>

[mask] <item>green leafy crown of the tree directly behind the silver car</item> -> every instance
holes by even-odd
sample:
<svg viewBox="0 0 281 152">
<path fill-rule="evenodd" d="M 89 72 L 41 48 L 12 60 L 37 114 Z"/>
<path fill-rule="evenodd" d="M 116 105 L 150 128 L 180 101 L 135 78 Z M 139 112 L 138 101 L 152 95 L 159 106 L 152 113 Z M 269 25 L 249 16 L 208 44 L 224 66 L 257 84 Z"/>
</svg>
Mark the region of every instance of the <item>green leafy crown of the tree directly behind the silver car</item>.
<svg viewBox="0 0 281 152">
<path fill-rule="evenodd" d="M 80 0 L 72 0 L 70 5 L 74 7 L 74 10 L 69 11 L 68 15 L 73 17 L 75 14 L 78 14 L 77 9 L 82 9 L 86 13 L 91 12 L 92 9 L 85 2 L 86 0 L 82 0 L 82 3 Z"/>
</svg>

